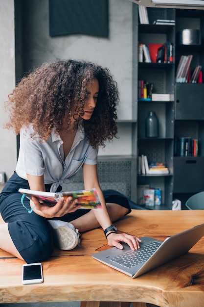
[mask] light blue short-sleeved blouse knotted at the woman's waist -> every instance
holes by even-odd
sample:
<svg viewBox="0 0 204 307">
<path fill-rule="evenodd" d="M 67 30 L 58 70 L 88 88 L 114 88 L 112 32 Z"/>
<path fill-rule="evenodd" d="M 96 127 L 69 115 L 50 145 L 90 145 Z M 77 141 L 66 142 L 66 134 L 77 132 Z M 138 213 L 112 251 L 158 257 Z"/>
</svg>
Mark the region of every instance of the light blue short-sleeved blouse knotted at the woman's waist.
<svg viewBox="0 0 204 307">
<path fill-rule="evenodd" d="M 62 183 L 69 183 L 84 163 L 97 164 L 98 148 L 93 149 L 85 139 L 84 130 L 77 130 L 71 150 L 64 160 L 63 141 L 52 131 L 47 142 L 32 139 L 32 126 L 22 128 L 20 151 L 16 166 L 19 177 L 26 179 L 26 173 L 33 176 L 44 175 L 45 184 L 52 184 L 50 192 L 55 192 Z"/>
</svg>

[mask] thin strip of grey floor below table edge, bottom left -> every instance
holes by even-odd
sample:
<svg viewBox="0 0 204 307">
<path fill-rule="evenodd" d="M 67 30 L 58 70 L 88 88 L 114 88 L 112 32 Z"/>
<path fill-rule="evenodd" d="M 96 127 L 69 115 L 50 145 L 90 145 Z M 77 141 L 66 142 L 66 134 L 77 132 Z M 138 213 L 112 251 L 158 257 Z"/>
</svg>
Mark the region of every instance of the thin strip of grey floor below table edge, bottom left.
<svg viewBox="0 0 204 307">
<path fill-rule="evenodd" d="M 80 302 L 66 303 L 15 303 L 15 304 L 0 304 L 0 307 L 80 307 Z"/>
</svg>

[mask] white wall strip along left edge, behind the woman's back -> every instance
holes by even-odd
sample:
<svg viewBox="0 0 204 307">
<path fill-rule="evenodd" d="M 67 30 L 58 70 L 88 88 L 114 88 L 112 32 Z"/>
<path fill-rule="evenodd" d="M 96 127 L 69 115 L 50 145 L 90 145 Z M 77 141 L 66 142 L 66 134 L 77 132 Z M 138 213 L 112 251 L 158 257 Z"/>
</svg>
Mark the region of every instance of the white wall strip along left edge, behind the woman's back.
<svg viewBox="0 0 204 307">
<path fill-rule="evenodd" d="M 0 0 L 0 37 L 0 172 L 5 172 L 8 178 L 17 159 L 16 136 L 3 129 L 7 118 L 4 101 L 15 87 L 14 0 Z"/>
</svg>

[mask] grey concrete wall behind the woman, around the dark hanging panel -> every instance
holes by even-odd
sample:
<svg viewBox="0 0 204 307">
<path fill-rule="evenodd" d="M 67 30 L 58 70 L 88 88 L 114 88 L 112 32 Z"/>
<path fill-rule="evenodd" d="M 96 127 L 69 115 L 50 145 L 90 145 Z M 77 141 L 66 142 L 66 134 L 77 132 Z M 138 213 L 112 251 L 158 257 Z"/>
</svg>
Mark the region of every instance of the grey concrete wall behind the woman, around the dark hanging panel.
<svg viewBox="0 0 204 307">
<path fill-rule="evenodd" d="M 109 38 L 89 35 L 49 36 L 48 0 L 29 0 L 24 20 L 24 70 L 58 58 L 87 59 L 108 67 L 118 82 L 120 120 L 132 115 L 132 2 L 109 0 Z M 131 124 L 119 125 L 119 140 L 107 144 L 101 155 L 131 154 Z"/>
</svg>

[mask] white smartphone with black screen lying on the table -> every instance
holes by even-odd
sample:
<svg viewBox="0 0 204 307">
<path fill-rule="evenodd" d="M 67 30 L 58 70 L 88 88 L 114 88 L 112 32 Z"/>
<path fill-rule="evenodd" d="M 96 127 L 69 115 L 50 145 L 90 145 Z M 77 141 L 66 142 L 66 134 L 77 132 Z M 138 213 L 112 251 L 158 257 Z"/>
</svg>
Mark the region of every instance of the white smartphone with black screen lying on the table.
<svg viewBox="0 0 204 307">
<path fill-rule="evenodd" d="M 41 283 L 43 282 L 42 263 L 24 263 L 22 268 L 22 283 Z"/>
</svg>

